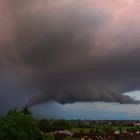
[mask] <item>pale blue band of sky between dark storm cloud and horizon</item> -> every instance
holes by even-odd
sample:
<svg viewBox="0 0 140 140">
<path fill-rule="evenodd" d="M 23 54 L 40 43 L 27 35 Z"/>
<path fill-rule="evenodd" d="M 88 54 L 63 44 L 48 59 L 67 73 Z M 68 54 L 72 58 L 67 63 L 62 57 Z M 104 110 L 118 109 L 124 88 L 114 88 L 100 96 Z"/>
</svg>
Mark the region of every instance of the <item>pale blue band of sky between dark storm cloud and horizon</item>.
<svg viewBox="0 0 140 140">
<path fill-rule="evenodd" d="M 79 102 L 61 105 L 49 102 L 31 108 L 35 117 L 47 119 L 138 120 L 140 105 Z"/>
</svg>

